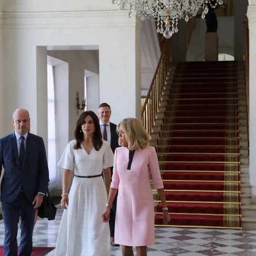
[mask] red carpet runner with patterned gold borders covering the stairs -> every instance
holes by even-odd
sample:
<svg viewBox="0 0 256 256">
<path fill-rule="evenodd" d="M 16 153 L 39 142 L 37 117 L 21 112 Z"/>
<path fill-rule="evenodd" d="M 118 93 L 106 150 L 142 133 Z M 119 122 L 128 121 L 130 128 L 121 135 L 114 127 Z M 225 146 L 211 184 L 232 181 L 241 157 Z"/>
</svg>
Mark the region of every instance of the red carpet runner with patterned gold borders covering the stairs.
<svg viewBox="0 0 256 256">
<path fill-rule="evenodd" d="M 241 228 L 237 98 L 236 62 L 177 64 L 156 147 L 168 226 Z"/>
</svg>

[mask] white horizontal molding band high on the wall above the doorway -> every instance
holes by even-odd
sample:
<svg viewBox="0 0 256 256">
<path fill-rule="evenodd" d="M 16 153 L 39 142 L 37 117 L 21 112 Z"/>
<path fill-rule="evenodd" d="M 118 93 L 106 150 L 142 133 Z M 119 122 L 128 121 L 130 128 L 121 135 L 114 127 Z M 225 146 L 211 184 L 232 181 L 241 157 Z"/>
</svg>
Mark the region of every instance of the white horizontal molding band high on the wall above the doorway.
<svg viewBox="0 0 256 256">
<path fill-rule="evenodd" d="M 118 22 L 117 22 L 118 21 Z M 3 12 L 4 28 L 99 28 L 137 27 L 136 17 L 124 11 Z"/>
</svg>

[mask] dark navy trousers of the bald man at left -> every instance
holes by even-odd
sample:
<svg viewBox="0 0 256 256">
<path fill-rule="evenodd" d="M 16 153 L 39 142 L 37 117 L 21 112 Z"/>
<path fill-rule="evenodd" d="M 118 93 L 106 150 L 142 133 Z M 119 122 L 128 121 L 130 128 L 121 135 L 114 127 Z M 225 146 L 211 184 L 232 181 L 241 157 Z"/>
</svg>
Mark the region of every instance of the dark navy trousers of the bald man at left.
<svg viewBox="0 0 256 256">
<path fill-rule="evenodd" d="M 4 219 L 4 256 L 30 256 L 32 252 L 32 235 L 34 229 L 35 209 L 26 199 L 24 192 L 12 203 L 2 202 Z M 20 245 L 18 254 L 17 234 L 20 223 Z"/>
</svg>

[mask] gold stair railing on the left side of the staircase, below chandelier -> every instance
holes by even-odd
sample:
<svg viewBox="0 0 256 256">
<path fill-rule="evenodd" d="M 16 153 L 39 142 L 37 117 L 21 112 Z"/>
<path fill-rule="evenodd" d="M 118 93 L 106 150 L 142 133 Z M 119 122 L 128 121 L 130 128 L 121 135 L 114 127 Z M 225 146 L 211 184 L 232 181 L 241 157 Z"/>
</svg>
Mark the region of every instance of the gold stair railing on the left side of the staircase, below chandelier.
<svg viewBox="0 0 256 256">
<path fill-rule="evenodd" d="M 141 111 L 142 124 L 150 135 L 150 138 L 169 75 L 170 52 L 171 39 L 168 39 L 162 48 L 162 53 Z"/>
</svg>

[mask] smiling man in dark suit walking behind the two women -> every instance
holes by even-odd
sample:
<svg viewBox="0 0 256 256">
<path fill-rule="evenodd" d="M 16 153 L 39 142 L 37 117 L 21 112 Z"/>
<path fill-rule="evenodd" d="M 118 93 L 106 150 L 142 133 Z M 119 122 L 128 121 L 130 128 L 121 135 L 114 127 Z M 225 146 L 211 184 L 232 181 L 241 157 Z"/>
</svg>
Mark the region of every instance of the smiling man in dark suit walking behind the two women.
<svg viewBox="0 0 256 256">
<path fill-rule="evenodd" d="M 118 145 L 118 135 L 117 135 L 117 125 L 110 123 L 109 119 L 111 116 L 111 108 L 110 105 L 107 103 L 102 103 L 99 105 L 98 108 L 98 116 L 100 118 L 100 126 L 102 129 L 102 135 L 103 139 L 107 140 L 110 144 L 110 147 L 115 153 L 115 149 L 119 147 Z M 104 138 L 104 126 L 106 131 L 106 138 Z M 113 175 L 113 167 L 111 169 L 111 177 Z M 113 201 L 112 208 L 110 210 L 110 220 L 109 220 L 109 228 L 110 228 L 110 243 L 113 246 L 119 246 L 118 244 L 115 244 L 114 241 L 114 234 L 115 234 L 115 219 L 116 219 L 116 209 L 117 209 L 117 196 L 115 197 Z"/>
</svg>

